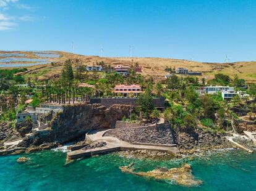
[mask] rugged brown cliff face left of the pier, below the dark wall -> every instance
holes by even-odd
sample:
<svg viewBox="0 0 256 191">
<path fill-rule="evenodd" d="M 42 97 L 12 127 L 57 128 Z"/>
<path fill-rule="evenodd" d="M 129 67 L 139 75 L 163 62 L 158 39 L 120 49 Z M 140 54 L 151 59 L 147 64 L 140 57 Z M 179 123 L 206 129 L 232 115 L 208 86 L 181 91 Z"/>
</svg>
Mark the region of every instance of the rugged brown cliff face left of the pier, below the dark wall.
<svg viewBox="0 0 256 191">
<path fill-rule="evenodd" d="M 54 116 L 51 121 L 52 131 L 45 137 L 41 136 L 41 140 L 63 143 L 94 129 L 114 128 L 117 120 L 129 115 L 129 110 L 129 105 L 113 105 L 109 108 L 101 104 L 67 106 L 63 113 Z"/>
</svg>

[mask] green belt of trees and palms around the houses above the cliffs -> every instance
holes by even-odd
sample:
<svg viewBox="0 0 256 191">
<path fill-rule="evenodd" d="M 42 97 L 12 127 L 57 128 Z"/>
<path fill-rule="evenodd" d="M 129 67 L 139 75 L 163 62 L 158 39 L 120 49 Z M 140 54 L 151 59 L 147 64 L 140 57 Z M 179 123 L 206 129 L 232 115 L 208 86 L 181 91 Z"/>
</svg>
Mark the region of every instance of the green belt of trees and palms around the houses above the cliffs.
<svg viewBox="0 0 256 191">
<path fill-rule="evenodd" d="M 64 57 L 62 57 L 63 59 Z M 246 91 L 251 99 L 256 97 L 256 85 L 249 87 L 245 79 L 239 76 L 224 75 L 216 73 L 214 78 L 197 78 L 195 76 L 171 75 L 167 79 L 156 79 L 135 73 L 133 70 L 138 63 L 132 63 L 128 76 L 118 75 L 111 71 L 111 64 L 103 61 L 96 62 L 104 68 L 103 72 L 84 71 L 85 67 L 80 65 L 80 60 L 66 60 L 61 72 L 54 78 L 38 81 L 38 76 L 24 73 L 23 69 L 0 70 L 1 99 L 11 95 L 16 97 L 15 104 L 9 103 L 9 107 L 2 107 L 1 120 L 14 121 L 17 112 L 21 112 L 25 105 L 37 107 L 40 103 L 49 102 L 55 104 L 74 104 L 85 102 L 89 97 L 114 97 L 113 88 L 116 84 L 139 84 L 143 89 L 137 101 L 137 108 L 127 119 L 147 121 L 163 118 L 166 123 L 173 127 L 202 127 L 210 131 L 224 131 L 231 128 L 232 120 L 239 120 L 231 108 L 237 107 L 247 109 L 255 113 L 254 103 L 248 102 L 248 98 L 240 99 L 235 96 L 230 102 L 222 99 L 221 94 L 198 95 L 196 89 L 207 85 L 234 86 L 236 90 Z M 54 65 L 54 63 L 53 63 Z M 168 69 L 169 71 L 169 69 Z M 81 86 L 87 83 L 93 86 Z M 24 86 L 17 86 L 24 84 Z M 128 97 L 134 97 L 129 94 Z M 153 107 L 153 97 L 163 96 L 166 99 L 166 108 L 159 112 Z M 32 102 L 25 104 L 25 101 Z M 3 102 L 4 103 L 4 102 Z M 2 104 L 4 106 L 4 104 Z M 142 114 L 139 116 L 139 113 Z"/>
</svg>

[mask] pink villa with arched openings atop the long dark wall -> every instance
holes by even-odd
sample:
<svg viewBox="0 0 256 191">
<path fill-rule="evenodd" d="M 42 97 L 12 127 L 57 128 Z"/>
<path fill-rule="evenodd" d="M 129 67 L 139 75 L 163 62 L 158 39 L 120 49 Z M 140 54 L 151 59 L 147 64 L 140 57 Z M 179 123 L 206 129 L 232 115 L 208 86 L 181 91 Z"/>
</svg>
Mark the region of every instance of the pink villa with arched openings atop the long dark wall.
<svg viewBox="0 0 256 191">
<path fill-rule="evenodd" d="M 119 84 L 114 87 L 114 94 L 122 94 L 124 97 L 127 97 L 129 94 L 134 94 L 134 96 L 137 96 L 138 94 L 141 94 L 142 87 L 137 84 L 131 84 L 131 85 L 124 85 Z"/>
</svg>

